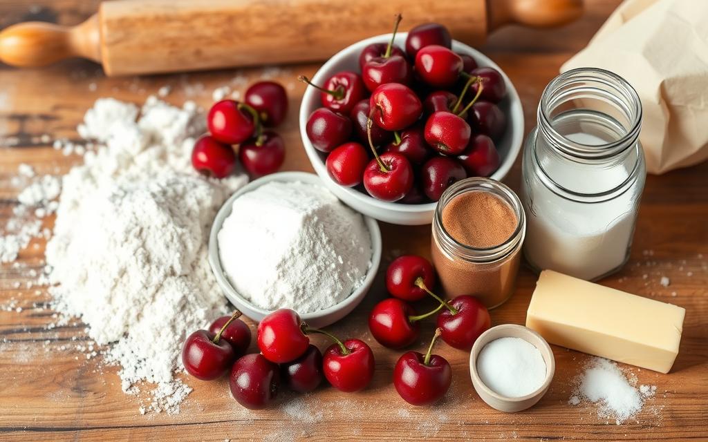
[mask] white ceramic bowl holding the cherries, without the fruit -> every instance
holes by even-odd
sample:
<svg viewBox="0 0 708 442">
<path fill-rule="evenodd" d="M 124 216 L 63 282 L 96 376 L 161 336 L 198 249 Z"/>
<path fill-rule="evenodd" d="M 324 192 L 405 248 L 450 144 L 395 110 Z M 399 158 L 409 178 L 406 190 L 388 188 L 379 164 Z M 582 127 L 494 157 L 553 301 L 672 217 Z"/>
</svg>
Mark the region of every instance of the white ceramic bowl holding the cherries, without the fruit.
<svg viewBox="0 0 708 442">
<path fill-rule="evenodd" d="M 408 33 L 396 34 L 396 45 L 405 47 L 406 35 Z M 346 47 L 337 54 L 334 54 L 322 67 L 314 74 L 312 82 L 315 84 L 323 84 L 327 78 L 340 71 L 355 71 L 359 72 L 359 54 L 371 43 L 389 42 L 391 34 L 377 35 L 376 37 L 367 38 L 353 45 Z M 504 74 L 499 66 L 491 61 L 481 52 L 472 49 L 463 43 L 456 40 L 452 42 L 452 50 L 461 54 L 471 55 L 479 64 L 479 66 L 490 66 L 501 72 L 501 76 L 506 81 L 506 97 L 499 103 L 501 110 L 507 115 L 508 123 L 505 134 L 497 143 L 501 164 L 491 177 L 493 180 L 503 180 L 509 172 L 516 157 L 521 149 L 524 134 L 524 115 L 521 109 L 521 100 L 508 76 Z M 404 224 L 404 225 L 420 225 L 430 224 L 433 220 L 435 212 L 435 202 L 426 204 L 401 204 L 396 202 L 384 202 L 370 195 L 360 192 L 356 189 L 343 187 L 334 182 L 327 169 L 324 161 L 326 154 L 318 151 L 312 146 L 307 138 L 307 119 L 309 115 L 318 107 L 321 107 L 319 91 L 312 86 L 309 86 L 302 97 L 300 104 L 300 135 L 302 136 L 302 144 L 305 146 L 305 151 L 315 172 L 322 178 L 324 185 L 331 190 L 333 194 L 346 202 L 350 207 L 360 211 L 362 214 L 372 216 L 372 218 L 386 221 L 387 223 Z"/>
</svg>

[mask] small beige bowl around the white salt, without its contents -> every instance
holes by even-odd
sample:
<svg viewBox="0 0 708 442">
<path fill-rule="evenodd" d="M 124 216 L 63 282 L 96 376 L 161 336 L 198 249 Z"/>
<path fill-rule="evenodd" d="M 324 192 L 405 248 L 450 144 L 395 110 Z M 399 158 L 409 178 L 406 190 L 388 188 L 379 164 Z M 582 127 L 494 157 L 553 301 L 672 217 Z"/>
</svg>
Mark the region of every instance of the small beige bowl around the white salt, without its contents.
<svg viewBox="0 0 708 442">
<path fill-rule="evenodd" d="M 546 378 L 538 390 L 521 397 L 506 397 L 484 385 L 479 377 L 479 373 L 477 373 L 477 356 L 479 356 L 479 353 L 484 349 L 486 344 L 502 337 L 520 337 L 539 349 L 543 360 L 546 362 Z M 521 410 L 536 405 L 536 402 L 548 391 L 555 372 L 556 360 L 554 359 L 551 346 L 549 346 L 546 339 L 543 339 L 541 335 L 523 325 L 503 324 L 491 327 L 477 338 L 476 342 L 474 342 L 474 346 L 472 346 L 472 353 L 469 355 L 469 374 L 472 376 L 474 390 L 487 405 L 501 412 L 520 412 Z"/>
</svg>

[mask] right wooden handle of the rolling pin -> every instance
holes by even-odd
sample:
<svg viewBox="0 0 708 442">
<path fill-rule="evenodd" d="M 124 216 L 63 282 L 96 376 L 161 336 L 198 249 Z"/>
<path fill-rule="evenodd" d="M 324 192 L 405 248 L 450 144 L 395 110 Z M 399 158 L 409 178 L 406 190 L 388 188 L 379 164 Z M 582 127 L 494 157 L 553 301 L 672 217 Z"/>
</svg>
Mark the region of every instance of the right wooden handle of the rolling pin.
<svg viewBox="0 0 708 442">
<path fill-rule="evenodd" d="M 552 28 L 583 15 L 583 0 L 486 0 L 489 30 L 516 23 Z"/>
</svg>

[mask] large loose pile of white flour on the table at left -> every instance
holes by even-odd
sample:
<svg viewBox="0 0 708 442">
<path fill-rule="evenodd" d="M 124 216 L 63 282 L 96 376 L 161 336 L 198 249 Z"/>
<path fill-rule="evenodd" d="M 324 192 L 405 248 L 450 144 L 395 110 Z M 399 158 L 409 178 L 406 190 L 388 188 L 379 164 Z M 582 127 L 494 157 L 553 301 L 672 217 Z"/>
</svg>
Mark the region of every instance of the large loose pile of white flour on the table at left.
<svg viewBox="0 0 708 442">
<path fill-rule="evenodd" d="M 151 97 L 139 111 L 97 100 L 78 130 L 102 147 L 64 176 L 47 243 L 57 310 L 110 344 L 106 358 L 120 364 L 126 392 L 140 381 L 157 384 L 148 407 L 157 412 L 178 412 L 190 392 L 173 376 L 185 335 L 224 313 L 207 237 L 219 206 L 246 182 L 193 170 L 192 136 L 203 121 L 193 103 Z"/>
</svg>

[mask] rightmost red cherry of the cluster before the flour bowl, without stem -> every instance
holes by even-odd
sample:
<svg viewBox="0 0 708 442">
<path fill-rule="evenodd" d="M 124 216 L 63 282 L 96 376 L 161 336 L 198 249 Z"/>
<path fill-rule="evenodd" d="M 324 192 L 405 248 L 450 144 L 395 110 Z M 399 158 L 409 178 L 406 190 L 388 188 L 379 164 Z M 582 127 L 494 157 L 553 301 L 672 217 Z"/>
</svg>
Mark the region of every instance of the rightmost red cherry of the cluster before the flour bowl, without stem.
<svg viewBox="0 0 708 442">
<path fill-rule="evenodd" d="M 339 344 L 331 344 L 323 356 L 324 376 L 337 390 L 363 390 L 374 377 L 374 353 L 359 339 L 347 339 L 343 351 Z"/>
</svg>

